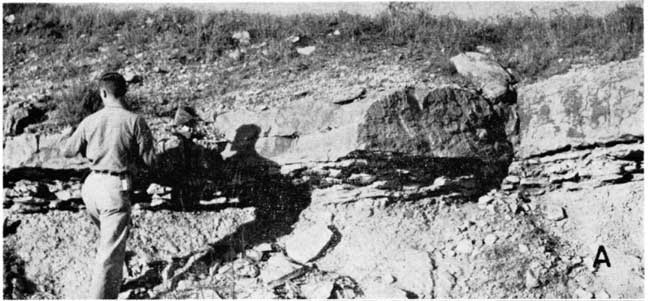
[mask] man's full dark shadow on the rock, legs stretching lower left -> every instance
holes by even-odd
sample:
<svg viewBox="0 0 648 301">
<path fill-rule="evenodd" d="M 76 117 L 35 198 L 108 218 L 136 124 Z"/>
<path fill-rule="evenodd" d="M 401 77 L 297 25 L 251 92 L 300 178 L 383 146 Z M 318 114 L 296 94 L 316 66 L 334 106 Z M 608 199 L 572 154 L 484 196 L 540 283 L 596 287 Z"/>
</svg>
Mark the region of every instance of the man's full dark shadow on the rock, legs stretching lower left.
<svg viewBox="0 0 648 301">
<path fill-rule="evenodd" d="M 194 206 L 192 209 L 178 206 L 171 209 L 186 211 L 254 207 L 254 220 L 239 226 L 234 233 L 210 242 L 207 251 L 199 250 L 187 257 L 174 258 L 170 263 L 172 266 L 169 266 L 168 262 L 161 261 L 149 263 L 150 269 L 137 279 L 126 283 L 122 291 L 141 287 L 150 288 L 163 283 L 163 270 L 173 270 L 175 267 L 177 271 L 186 264 L 189 257 L 200 255 L 202 252 L 206 253 L 201 255 L 198 261 L 207 265 L 212 265 L 214 262 L 222 264 L 236 259 L 236 256 L 231 256 L 232 251 L 238 253 L 263 242 L 272 243 L 276 238 L 292 232 L 292 226 L 297 222 L 300 213 L 310 204 L 311 188 L 308 183 L 293 184 L 290 178 L 281 175 L 279 164 L 258 154 L 255 144 L 259 133 L 260 128 L 256 125 L 241 126 L 232 142 L 232 150 L 237 153 L 226 160 L 216 161 L 221 170 L 210 171 L 209 174 L 192 171 L 194 176 L 205 176 L 203 179 L 212 180 L 225 197 L 237 198 L 239 202 L 211 207 Z M 182 153 L 187 146 L 193 151 L 202 151 L 186 144 L 176 149 L 175 155 L 178 155 L 178 151 Z M 173 156 L 172 153 L 166 155 Z M 183 169 L 173 174 L 181 177 L 186 171 L 187 169 Z M 215 176 L 219 178 L 213 178 Z M 167 179 L 166 182 L 160 183 L 173 185 L 174 181 L 177 180 Z"/>
</svg>

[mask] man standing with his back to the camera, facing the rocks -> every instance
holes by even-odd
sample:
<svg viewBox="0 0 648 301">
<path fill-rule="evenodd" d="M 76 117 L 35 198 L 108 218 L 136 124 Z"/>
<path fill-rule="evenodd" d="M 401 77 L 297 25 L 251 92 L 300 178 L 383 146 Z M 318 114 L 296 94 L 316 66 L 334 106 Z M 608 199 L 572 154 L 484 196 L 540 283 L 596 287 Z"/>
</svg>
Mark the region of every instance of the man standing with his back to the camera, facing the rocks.
<svg viewBox="0 0 648 301">
<path fill-rule="evenodd" d="M 151 167 L 155 152 L 146 121 L 125 108 L 126 81 L 109 72 L 99 80 L 104 108 L 88 116 L 63 146 L 63 155 L 90 161 L 92 172 L 81 195 L 99 227 L 97 261 L 90 287 L 93 299 L 116 299 L 122 282 L 130 229 L 130 193 L 134 167 Z M 69 134 L 69 131 L 64 134 Z"/>
</svg>

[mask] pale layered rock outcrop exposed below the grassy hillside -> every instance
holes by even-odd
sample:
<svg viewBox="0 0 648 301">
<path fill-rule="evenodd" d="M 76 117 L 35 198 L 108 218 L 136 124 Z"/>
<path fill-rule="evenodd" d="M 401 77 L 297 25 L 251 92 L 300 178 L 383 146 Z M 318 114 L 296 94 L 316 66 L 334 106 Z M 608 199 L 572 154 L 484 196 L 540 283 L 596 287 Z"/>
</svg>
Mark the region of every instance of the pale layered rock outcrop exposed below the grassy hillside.
<svg viewBox="0 0 648 301">
<path fill-rule="evenodd" d="M 148 191 L 122 297 L 642 297 L 642 58 L 517 89 L 485 55 L 453 62 L 469 85 L 202 104 L 230 140 L 255 124 L 257 152 L 225 156 L 238 178 L 191 211 L 171 205 L 182 187 Z M 28 159 L 5 161 L 5 249 L 19 259 L 5 294 L 83 297 L 96 231 L 78 210 L 82 169 L 16 158 Z M 599 245 L 610 268 L 593 268 Z"/>
</svg>

